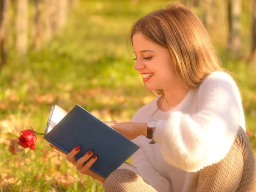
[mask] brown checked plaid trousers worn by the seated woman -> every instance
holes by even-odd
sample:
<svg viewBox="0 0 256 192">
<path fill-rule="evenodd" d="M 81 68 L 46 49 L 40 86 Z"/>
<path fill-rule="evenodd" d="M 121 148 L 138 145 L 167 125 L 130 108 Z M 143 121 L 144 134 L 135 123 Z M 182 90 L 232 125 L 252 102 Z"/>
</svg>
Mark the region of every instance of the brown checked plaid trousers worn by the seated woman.
<svg viewBox="0 0 256 192">
<path fill-rule="evenodd" d="M 157 192 L 128 169 L 112 172 L 104 188 L 105 192 Z M 241 127 L 224 159 L 200 171 L 197 192 L 256 192 L 255 157 Z"/>
</svg>

